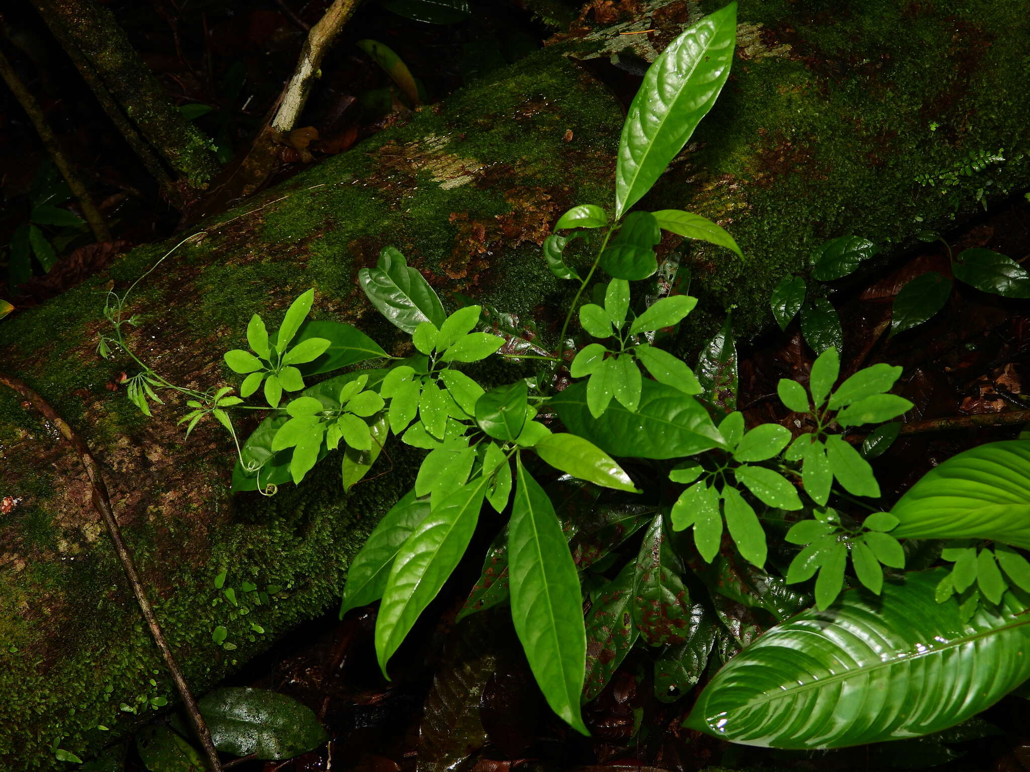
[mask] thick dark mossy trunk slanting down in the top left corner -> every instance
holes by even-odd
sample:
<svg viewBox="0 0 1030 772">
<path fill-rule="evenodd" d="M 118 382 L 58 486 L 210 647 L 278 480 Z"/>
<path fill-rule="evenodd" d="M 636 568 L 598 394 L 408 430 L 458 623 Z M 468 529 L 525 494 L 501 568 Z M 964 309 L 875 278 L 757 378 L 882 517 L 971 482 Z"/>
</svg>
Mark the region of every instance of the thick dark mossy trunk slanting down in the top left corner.
<svg viewBox="0 0 1030 772">
<path fill-rule="evenodd" d="M 181 207 L 193 196 L 169 186 L 167 172 L 154 168 L 154 154 L 178 177 L 179 188 L 207 187 L 219 168 L 210 140 L 182 116 L 111 11 L 94 0 L 33 2 L 172 203 Z"/>
</svg>

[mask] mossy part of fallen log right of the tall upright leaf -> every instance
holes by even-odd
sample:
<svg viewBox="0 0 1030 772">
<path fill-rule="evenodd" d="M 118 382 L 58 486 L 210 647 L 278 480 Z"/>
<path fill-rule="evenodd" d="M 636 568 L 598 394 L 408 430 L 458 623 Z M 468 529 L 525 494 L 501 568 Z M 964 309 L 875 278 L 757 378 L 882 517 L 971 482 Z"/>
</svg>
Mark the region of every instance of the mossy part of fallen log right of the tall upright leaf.
<svg viewBox="0 0 1030 772">
<path fill-rule="evenodd" d="M 769 50 L 791 50 L 734 61 L 691 149 L 642 202 L 715 219 L 744 250 L 742 261 L 692 249 L 698 334 L 727 308 L 737 309 L 739 335 L 758 332 L 771 316 L 756 311 L 767 309 L 777 282 L 803 271 L 827 239 L 863 236 L 884 244 L 881 259 L 889 259 L 916 232 L 947 231 L 978 199 L 1030 178 L 1026 14 L 986 1 L 810 5 L 808 15 L 793 3 L 742 7 L 742 21 L 764 26 Z M 919 181 L 1001 147 L 1004 163 L 956 184 Z"/>
</svg>

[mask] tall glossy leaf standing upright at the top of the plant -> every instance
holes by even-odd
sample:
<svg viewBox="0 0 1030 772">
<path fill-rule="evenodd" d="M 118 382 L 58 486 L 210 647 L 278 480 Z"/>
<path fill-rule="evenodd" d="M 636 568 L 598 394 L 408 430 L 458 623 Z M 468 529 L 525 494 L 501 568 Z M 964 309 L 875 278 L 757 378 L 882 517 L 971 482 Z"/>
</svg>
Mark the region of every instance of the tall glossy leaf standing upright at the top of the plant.
<svg viewBox="0 0 1030 772">
<path fill-rule="evenodd" d="M 729 75 L 736 2 L 674 40 L 644 76 L 619 140 L 615 216 L 640 201 L 715 104 Z"/>
</svg>

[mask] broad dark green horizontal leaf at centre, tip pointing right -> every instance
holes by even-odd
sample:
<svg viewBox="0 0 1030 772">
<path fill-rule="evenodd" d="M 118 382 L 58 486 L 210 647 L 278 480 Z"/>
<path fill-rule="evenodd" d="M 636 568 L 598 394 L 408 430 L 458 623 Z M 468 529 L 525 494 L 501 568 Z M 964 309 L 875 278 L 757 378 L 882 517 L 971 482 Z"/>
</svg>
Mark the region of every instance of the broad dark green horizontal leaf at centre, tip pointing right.
<svg viewBox="0 0 1030 772">
<path fill-rule="evenodd" d="M 700 402 L 657 381 L 642 383 L 636 412 L 613 401 L 600 418 L 593 418 L 582 382 L 559 392 L 550 405 L 570 431 L 613 456 L 678 458 L 725 446 Z"/>
</svg>

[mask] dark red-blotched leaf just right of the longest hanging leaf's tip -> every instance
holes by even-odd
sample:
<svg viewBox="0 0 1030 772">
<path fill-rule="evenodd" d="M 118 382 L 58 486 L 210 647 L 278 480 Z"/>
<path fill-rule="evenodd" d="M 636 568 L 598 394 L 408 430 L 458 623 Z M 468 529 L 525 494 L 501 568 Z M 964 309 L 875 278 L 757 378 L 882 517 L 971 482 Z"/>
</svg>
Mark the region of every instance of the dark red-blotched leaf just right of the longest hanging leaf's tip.
<svg viewBox="0 0 1030 772">
<path fill-rule="evenodd" d="M 583 701 L 592 700 L 629 654 L 640 636 L 633 624 L 631 601 L 637 564 L 627 563 L 597 592 L 586 618 L 586 678 Z"/>
</svg>

